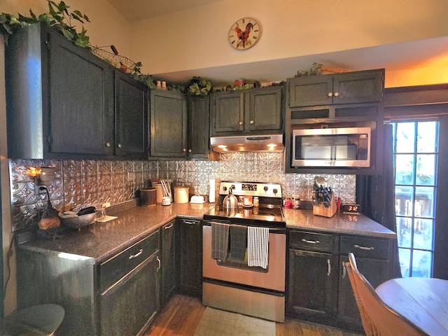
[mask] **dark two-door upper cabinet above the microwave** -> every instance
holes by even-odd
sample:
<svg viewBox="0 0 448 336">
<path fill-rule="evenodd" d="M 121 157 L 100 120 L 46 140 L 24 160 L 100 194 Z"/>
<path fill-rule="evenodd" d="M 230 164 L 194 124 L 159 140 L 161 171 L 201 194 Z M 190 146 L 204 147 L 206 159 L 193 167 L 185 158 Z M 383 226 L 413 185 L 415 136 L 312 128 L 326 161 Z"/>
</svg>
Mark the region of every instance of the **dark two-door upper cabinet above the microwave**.
<svg viewBox="0 0 448 336">
<path fill-rule="evenodd" d="M 289 107 L 381 102 L 384 69 L 290 78 Z"/>
</svg>

